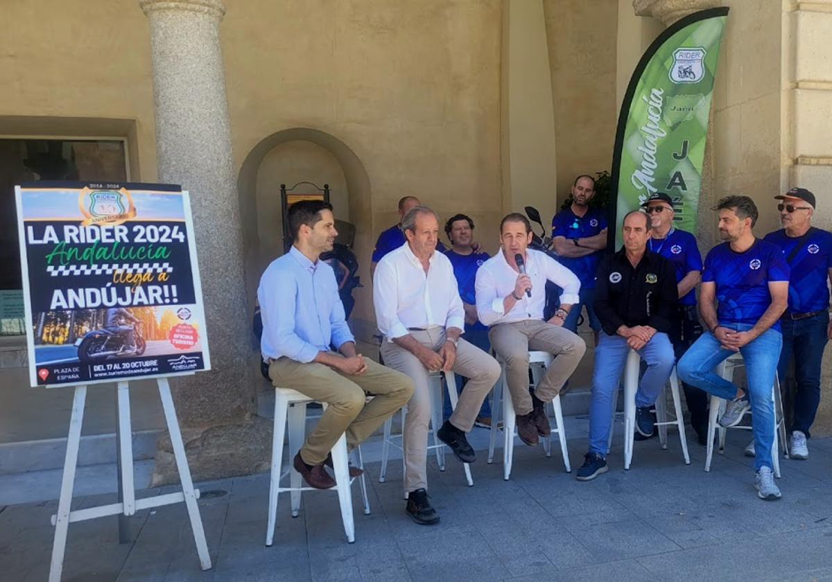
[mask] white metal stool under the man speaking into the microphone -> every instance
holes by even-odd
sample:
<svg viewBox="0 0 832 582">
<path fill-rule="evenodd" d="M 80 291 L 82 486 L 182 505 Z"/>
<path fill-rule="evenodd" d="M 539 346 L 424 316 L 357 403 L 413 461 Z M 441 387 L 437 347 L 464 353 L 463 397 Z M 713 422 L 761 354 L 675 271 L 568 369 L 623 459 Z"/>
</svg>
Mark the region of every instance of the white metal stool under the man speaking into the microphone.
<svg viewBox="0 0 832 582">
<path fill-rule="evenodd" d="M 514 402 L 512 402 L 511 394 L 508 392 L 508 382 L 506 382 L 506 363 L 498 355 L 498 363 L 500 363 L 500 379 L 494 385 L 494 394 L 491 404 L 491 442 L 488 445 L 488 463 L 492 463 L 494 459 L 494 447 L 497 444 L 497 432 L 501 430 L 498 427 L 497 412 L 501 410 L 500 401 L 503 401 L 503 479 L 508 481 L 512 474 L 512 463 L 514 460 L 514 435 L 516 433 L 517 420 L 514 412 Z M 532 382 L 537 386 L 537 382 L 546 372 L 546 368 L 552 364 L 552 354 L 548 352 L 532 351 L 528 353 L 528 365 L 532 369 Z M 549 404 L 546 405 L 550 406 Z M 567 450 L 567 435 L 563 426 L 563 410 L 561 407 L 561 397 L 558 394 L 551 402 L 552 410 L 555 415 L 555 426 L 552 427 L 552 432 L 557 433 L 557 440 L 561 445 L 561 455 L 563 457 L 564 470 L 567 473 L 572 472 L 572 466 L 569 465 L 569 451 Z M 548 416 L 548 415 L 547 415 Z M 552 437 L 541 439 L 543 451 L 546 451 L 546 456 L 552 456 Z"/>
</svg>

